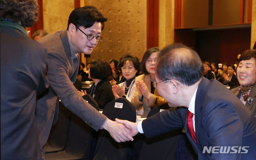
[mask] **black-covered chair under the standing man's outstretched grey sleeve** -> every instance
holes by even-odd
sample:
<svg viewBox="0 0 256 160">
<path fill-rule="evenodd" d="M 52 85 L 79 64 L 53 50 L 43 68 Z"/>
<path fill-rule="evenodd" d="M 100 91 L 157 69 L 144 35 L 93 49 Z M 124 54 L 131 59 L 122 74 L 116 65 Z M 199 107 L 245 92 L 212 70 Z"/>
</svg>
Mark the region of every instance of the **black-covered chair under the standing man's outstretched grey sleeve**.
<svg viewBox="0 0 256 160">
<path fill-rule="evenodd" d="M 90 96 L 83 98 L 99 111 Z M 98 132 L 59 102 L 59 119 L 52 127 L 46 144 L 47 160 L 93 159 Z"/>
</svg>

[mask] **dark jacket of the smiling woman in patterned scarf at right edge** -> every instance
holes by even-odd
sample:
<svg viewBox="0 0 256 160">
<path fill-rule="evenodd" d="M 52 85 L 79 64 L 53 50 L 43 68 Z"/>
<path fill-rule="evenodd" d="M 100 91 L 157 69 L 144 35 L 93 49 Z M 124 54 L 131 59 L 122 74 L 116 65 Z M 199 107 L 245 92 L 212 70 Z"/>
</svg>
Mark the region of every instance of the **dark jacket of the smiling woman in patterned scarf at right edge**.
<svg viewBox="0 0 256 160">
<path fill-rule="evenodd" d="M 234 89 L 231 89 L 231 92 L 233 92 L 235 94 L 236 90 L 239 89 L 239 87 L 236 87 Z M 238 98 L 240 98 L 241 96 L 241 91 L 239 92 L 239 94 L 237 95 Z M 248 98 L 252 98 L 252 101 L 248 101 Z M 252 87 L 252 90 L 250 91 L 250 94 L 247 96 L 247 100 L 245 103 L 245 106 L 254 113 L 254 116 L 256 117 L 256 85 L 254 84 L 254 86 Z"/>
</svg>

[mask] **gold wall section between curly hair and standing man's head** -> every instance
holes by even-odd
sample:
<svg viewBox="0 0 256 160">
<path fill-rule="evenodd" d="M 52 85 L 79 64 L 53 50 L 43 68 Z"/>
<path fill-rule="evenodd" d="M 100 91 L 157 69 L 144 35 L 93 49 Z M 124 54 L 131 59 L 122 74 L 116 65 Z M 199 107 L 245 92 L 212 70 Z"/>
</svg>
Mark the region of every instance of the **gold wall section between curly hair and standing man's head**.
<svg viewBox="0 0 256 160">
<path fill-rule="evenodd" d="M 74 0 L 43 0 L 43 28 L 48 33 L 66 30 L 73 10 Z"/>
</svg>

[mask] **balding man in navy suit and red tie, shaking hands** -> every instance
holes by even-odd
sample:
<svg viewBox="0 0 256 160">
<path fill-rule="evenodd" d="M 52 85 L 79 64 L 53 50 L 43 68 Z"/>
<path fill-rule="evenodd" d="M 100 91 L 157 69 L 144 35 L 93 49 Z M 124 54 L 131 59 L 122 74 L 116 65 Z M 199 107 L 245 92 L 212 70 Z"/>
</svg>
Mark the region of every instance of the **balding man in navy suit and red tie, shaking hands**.
<svg viewBox="0 0 256 160">
<path fill-rule="evenodd" d="M 202 73 L 194 50 L 183 44 L 167 46 L 159 55 L 154 86 L 170 107 L 184 107 L 142 123 L 117 122 L 125 124 L 130 135 L 140 132 L 146 137 L 184 126 L 198 159 L 255 159 L 256 118 L 225 86 Z"/>
</svg>

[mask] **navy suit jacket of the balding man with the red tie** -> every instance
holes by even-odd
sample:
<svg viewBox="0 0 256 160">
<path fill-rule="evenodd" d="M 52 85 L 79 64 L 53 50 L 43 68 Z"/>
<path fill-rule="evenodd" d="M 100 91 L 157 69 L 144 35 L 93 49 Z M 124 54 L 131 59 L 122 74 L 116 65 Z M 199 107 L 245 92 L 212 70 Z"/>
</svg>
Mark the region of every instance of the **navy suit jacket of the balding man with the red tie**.
<svg viewBox="0 0 256 160">
<path fill-rule="evenodd" d="M 244 104 L 220 82 L 202 78 L 195 98 L 195 143 L 188 131 L 187 111 L 163 111 L 142 122 L 146 137 L 168 132 L 177 128 L 186 129 L 198 159 L 255 159 L 256 118 Z M 249 146 L 248 153 L 203 154 L 204 146 Z M 217 148 L 220 149 L 220 148 Z M 235 148 L 239 150 L 239 148 Z M 230 152 L 234 152 L 230 150 Z M 245 152 L 241 150 L 241 152 Z"/>
</svg>

